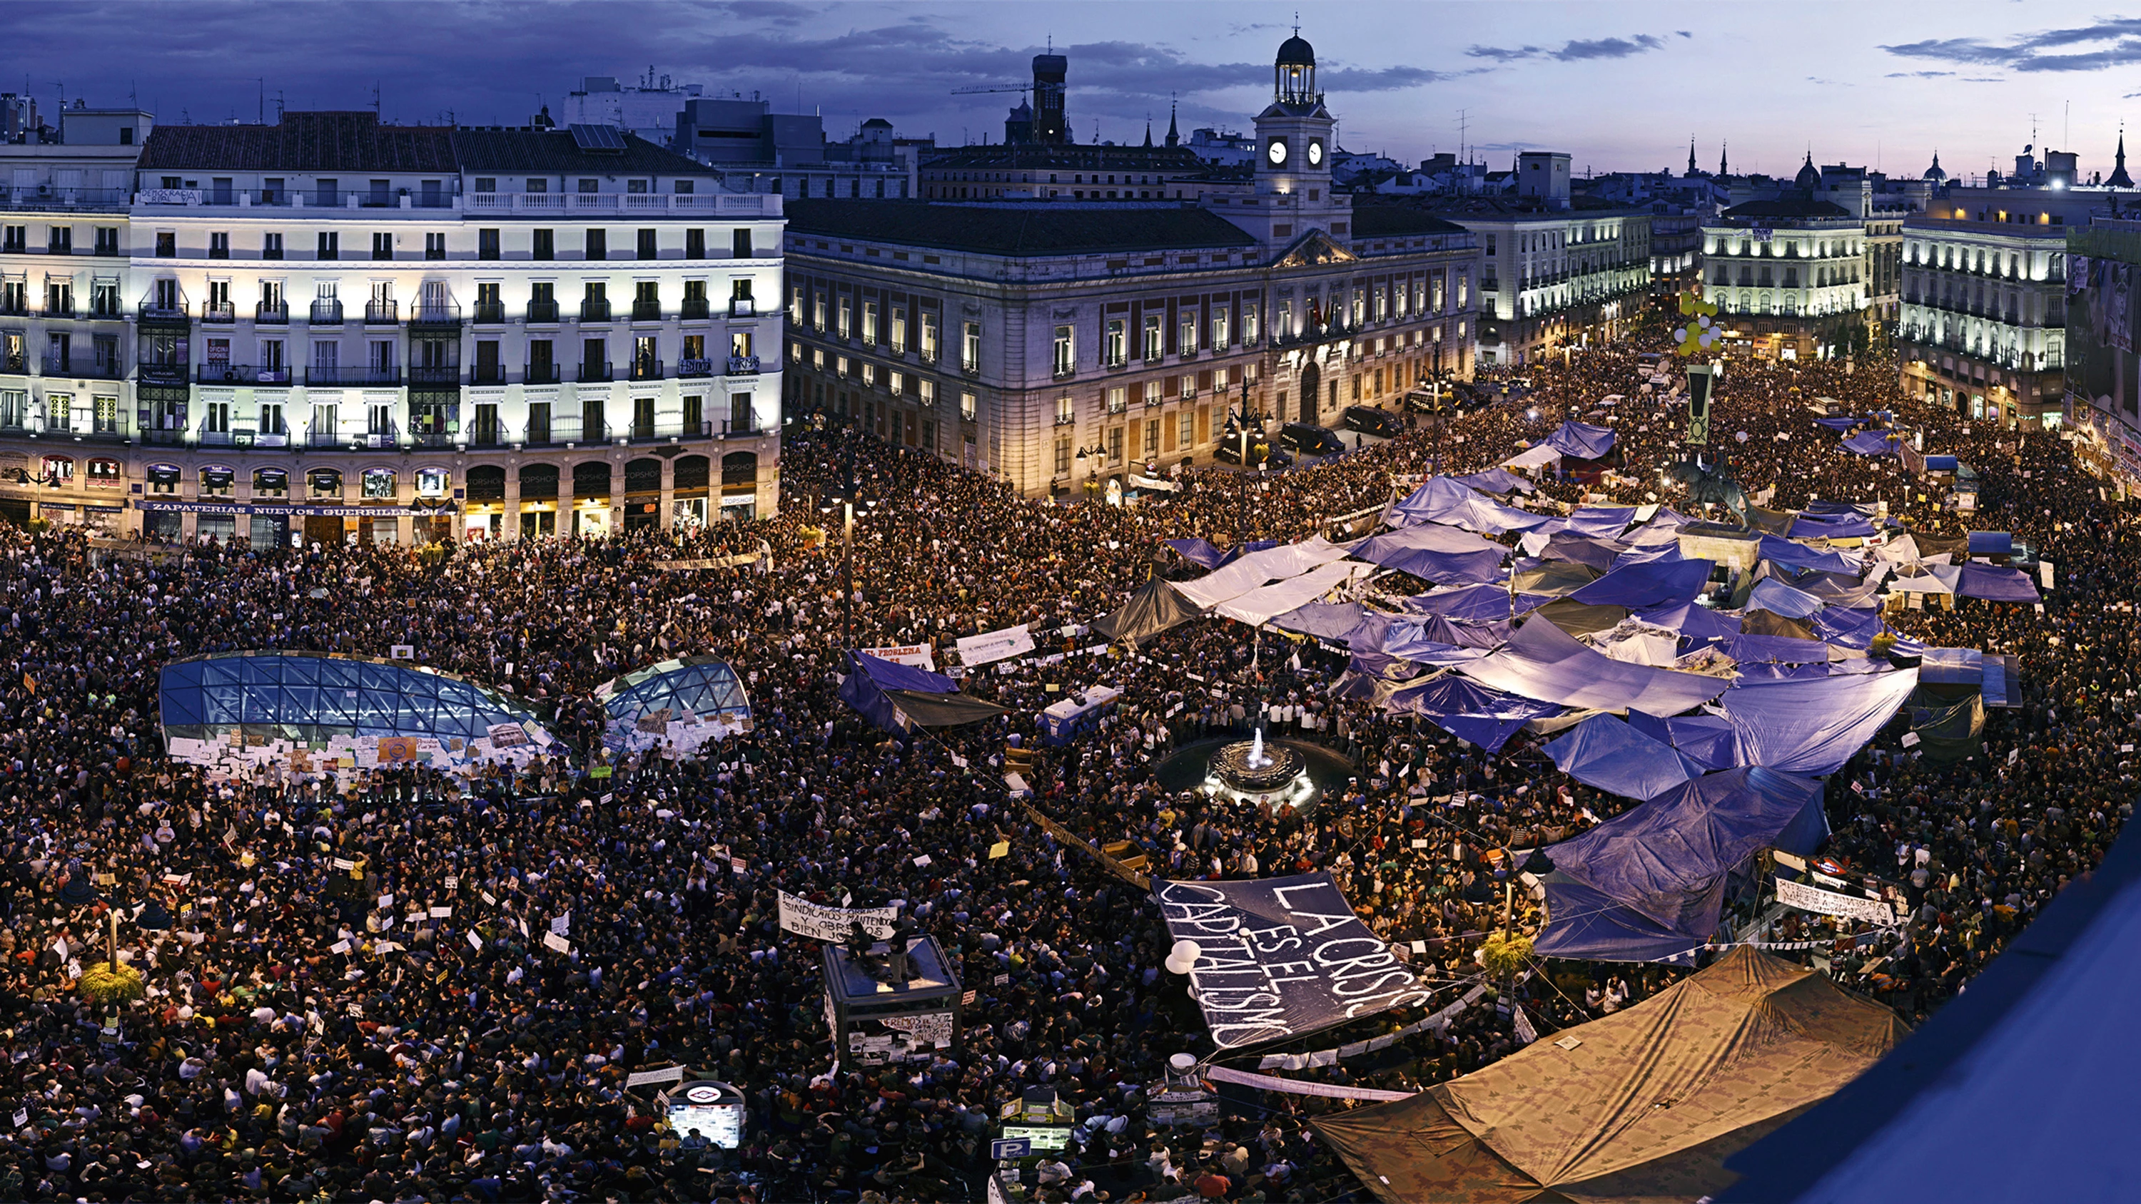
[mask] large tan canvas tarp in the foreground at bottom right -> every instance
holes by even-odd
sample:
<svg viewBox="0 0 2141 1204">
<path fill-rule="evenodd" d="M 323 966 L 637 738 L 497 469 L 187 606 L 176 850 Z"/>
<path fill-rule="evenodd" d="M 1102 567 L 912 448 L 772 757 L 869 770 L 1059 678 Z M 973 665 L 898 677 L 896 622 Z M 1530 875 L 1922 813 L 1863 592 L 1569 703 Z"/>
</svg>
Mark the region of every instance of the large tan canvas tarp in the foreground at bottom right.
<svg viewBox="0 0 2141 1204">
<path fill-rule="evenodd" d="M 1411 1099 L 1315 1121 L 1390 1204 L 1691 1204 L 1724 1159 L 1903 1037 L 1893 1012 L 1756 952 Z"/>
</svg>

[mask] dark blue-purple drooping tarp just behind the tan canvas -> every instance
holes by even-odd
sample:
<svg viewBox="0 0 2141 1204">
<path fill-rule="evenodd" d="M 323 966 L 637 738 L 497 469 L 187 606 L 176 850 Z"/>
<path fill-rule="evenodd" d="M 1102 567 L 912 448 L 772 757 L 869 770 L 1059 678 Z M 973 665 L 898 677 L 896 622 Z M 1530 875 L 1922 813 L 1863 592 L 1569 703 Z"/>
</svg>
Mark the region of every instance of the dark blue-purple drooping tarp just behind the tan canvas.
<svg viewBox="0 0 2141 1204">
<path fill-rule="evenodd" d="M 1554 873 L 1548 877 L 1546 930 L 1533 952 L 1548 958 L 1655 960 L 1664 935 L 1706 941 L 1724 909 L 1726 875 L 1762 849 L 1807 855 L 1826 834 L 1822 783 L 1816 781 L 1753 766 L 1672 787 L 1546 849 Z M 1582 922 L 1580 911 L 1557 909 L 1557 879 L 1591 887 L 1631 915 L 1612 926 Z"/>
</svg>

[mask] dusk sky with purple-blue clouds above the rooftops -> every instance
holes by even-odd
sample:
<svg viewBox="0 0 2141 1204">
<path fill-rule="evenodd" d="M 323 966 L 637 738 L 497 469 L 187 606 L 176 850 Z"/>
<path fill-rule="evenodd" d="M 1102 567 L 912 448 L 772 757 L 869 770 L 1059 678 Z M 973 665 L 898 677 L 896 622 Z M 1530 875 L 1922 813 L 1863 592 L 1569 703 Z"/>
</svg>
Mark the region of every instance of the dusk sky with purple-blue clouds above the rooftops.
<svg viewBox="0 0 2141 1204">
<path fill-rule="evenodd" d="M 47 109 L 128 94 L 158 122 L 250 122 L 265 88 L 293 109 L 520 124 L 582 75 L 649 71 L 709 92 L 773 96 L 846 137 L 865 118 L 940 143 L 1002 137 L 1006 96 L 953 88 L 1026 79 L 1047 38 L 1070 56 L 1079 141 L 1248 128 L 1295 4 L 6 4 L 0 36 Z M 2002 169 L 2032 141 L 2109 171 L 2120 120 L 2141 115 L 2141 17 L 2072 2 L 1792 4 L 1304 4 L 1323 90 L 1349 150 L 1417 160 L 1467 143 L 1565 150 L 1576 171 L 1734 171 L 1820 163 L 1918 173 Z M 34 53 L 21 53 L 34 47 Z M 265 83 L 257 83 L 263 79 Z"/>
</svg>

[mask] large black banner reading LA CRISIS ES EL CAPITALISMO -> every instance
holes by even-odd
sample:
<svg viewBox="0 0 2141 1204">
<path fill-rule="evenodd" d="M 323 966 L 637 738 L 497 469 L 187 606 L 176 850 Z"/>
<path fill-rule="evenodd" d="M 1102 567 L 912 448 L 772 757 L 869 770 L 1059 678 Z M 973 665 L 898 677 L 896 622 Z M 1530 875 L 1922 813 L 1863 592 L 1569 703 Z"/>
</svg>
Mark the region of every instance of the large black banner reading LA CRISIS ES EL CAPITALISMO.
<svg viewBox="0 0 2141 1204">
<path fill-rule="evenodd" d="M 1190 994 L 1223 1050 L 1424 1003 L 1428 986 L 1368 930 L 1330 875 L 1160 881 L 1175 941 L 1197 941 Z"/>
</svg>

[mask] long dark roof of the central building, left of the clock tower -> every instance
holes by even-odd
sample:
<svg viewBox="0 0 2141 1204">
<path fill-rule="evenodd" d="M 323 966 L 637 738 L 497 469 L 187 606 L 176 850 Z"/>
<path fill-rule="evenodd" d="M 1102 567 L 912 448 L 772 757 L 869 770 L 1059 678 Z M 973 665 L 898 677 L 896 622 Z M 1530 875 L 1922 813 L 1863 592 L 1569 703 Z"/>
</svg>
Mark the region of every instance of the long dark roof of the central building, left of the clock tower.
<svg viewBox="0 0 2141 1204">
<path fill-rule="evenodd" d="M 1083 207 L 1051 201 L 790 201 L 788 231 L 981 254 L 1255 246 L 1233 222 L 1188 207 Z"/>
</svg>

